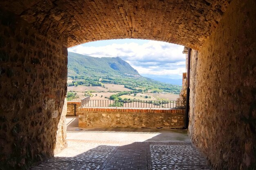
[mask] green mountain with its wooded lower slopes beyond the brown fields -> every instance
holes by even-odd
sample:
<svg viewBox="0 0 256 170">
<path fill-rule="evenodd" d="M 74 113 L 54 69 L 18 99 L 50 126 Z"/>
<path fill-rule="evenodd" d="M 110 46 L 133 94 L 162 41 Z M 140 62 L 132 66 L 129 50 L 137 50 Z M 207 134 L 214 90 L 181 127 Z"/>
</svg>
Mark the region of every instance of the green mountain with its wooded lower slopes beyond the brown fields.
<svg viewBox="0 0 256 170">
<path fill-rule="evenodd" d="M 106 83 L 122 84 L 139 92 L 169 92 L 179 94 L 181 86 L 162 83 L 142 77 L 137 70 L 120 57 L 90 57 L 68 53 L 68 86 L 104 86 Z"/>
</svg>

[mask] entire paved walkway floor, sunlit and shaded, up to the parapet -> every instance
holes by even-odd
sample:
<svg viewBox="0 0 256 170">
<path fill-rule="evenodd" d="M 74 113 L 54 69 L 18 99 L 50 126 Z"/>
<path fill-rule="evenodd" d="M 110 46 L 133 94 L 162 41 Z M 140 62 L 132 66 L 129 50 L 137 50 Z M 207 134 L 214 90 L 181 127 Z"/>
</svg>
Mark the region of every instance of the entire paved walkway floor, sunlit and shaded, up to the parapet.
<svg viewBox="0 0 256 170">
<path fill-rule="evenodd" d="M 31 170 L 210 170 L 181 130 L 91 128 L 67 138 L 66 149 Z"/>
</svg>

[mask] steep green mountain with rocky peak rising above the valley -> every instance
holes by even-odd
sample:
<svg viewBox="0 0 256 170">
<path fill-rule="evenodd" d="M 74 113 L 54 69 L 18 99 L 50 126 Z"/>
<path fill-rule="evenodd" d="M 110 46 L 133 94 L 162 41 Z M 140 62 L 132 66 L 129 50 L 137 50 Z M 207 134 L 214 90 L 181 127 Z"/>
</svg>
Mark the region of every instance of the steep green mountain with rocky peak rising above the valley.
<svg viewBox="0 0 256 170">
<path fill-rule="evenodd" d="M 90 57 L 78 53 L 68 52 L 68 76 L 109 76 L 134 75 L 140 76 L 126 61 L 120 57 Z"/>
</svg>

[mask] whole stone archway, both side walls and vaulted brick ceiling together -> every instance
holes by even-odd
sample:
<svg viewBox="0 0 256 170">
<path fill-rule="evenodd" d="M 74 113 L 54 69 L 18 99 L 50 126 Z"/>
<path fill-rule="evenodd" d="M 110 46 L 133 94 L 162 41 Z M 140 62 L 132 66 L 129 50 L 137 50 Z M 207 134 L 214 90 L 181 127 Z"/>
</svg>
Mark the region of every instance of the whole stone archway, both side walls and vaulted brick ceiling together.
<svg viewBox="0 0 256 170">
<path fill-rule="evenodd" d="M 216 169 L 252 168 L 255 7 L 253 0 L 1 1 L 1 167 L 53 155 L 67 47 L 140 38 L 199 50 L 191 138 Z"/>
</svg>

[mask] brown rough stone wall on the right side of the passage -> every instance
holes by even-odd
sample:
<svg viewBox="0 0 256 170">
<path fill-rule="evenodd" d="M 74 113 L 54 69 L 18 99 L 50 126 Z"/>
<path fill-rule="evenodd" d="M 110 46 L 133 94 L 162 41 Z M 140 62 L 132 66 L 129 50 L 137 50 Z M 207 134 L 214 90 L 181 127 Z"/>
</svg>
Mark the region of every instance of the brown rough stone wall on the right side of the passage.
<svg viewBox="0 0 256 170">
<path fill-rule="evenodd" d="M 216 170 L 256 167 L 255 7 L 233 0 L 192 59 L 190 135 Z"/>
</svg>

